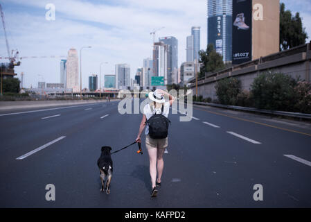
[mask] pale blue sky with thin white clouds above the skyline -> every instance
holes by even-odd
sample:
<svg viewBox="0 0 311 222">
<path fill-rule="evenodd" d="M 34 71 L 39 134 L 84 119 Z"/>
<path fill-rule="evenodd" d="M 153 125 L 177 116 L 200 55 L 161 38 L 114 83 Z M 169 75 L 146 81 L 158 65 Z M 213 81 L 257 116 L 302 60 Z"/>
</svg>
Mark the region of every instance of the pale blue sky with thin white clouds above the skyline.
<svg viewBox="0 0 311 222">
<path fill-rule="evenodd" d="M 311 36 L 311 1 L 281 0 L 292 12 L 300 12 L 303 26 Z M 55 5 L 55 21 L 46 20 L 46 4 Z M 4 0 L 10 49 L 20 56 L 66 56 L 70 48 L 82 46 L 82 87 L 88 76 L 114 74 L 114 65 L 128 63 L 131 75 L 152 56 L 152 35 L 175 36 L 179 41 L 179 65 L 186 60 L 186 36 L 191 26 L 201 26 L 201 49 L 206 48 L 206 0 Z M 310 41 L 311 38 L 309 37 Z M 0 57 L 7 56 L 3 28 L 0 30 Z M 1 60 L 0 62 L 6 62 Z M 15 70 L 25 74 L 24 86 L 38 81 L 59 83 L 60 59 L 31 58 Z"/>
</svg>

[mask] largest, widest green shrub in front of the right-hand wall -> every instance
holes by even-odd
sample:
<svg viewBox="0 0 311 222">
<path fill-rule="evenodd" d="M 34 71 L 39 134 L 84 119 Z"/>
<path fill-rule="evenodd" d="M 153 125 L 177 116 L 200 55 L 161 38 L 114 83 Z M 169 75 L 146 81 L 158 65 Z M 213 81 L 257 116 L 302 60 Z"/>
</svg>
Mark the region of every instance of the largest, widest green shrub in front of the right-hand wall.
<svg viewBox="0 0 311 222">
<path fill-rule="evenodd" d="M 251 85 L 254 106 L 265 110 L 292 111 L 296 80 L 281 73 L 260 74 Z"/>
</svg>

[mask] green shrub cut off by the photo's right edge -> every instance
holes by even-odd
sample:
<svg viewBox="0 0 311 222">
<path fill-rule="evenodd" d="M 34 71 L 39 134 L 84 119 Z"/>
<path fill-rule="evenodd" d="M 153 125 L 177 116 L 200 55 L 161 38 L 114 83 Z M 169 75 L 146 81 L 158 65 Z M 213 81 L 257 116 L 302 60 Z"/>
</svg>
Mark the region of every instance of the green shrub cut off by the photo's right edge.
<svg viewBox="0 0 311 222">
<path fill-rule="evenodd" d="M 296 101 L 294 112 L 311 113 L 311 84 L 299 82 L 294 87 Z"/>
</svg>

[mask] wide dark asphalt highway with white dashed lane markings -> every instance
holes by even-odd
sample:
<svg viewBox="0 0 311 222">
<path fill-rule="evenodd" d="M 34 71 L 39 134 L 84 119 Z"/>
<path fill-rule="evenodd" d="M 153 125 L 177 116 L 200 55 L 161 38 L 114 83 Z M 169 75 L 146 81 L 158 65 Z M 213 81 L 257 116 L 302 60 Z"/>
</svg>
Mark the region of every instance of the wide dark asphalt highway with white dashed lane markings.
<svg viewBox="0 0 311 222">
<path fill-rule="evenodd" d="M 96 166 L 101 146 L 134 142 L 141 114 L 119 114 L 116 101 L 0 112 L 0 207 L 311 207 L 310 124 L 202 106 L 182 115 L 169 115 L 162 187 L 150 198 L 144 144 L 143 155 L 136 145 L 113 155 L 109 195 Z"/>
</svg>

